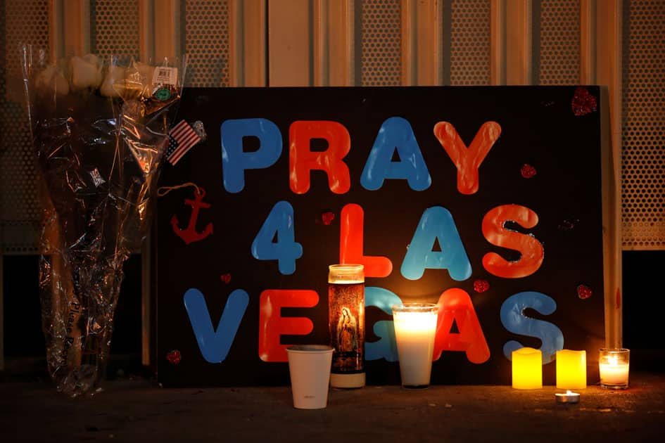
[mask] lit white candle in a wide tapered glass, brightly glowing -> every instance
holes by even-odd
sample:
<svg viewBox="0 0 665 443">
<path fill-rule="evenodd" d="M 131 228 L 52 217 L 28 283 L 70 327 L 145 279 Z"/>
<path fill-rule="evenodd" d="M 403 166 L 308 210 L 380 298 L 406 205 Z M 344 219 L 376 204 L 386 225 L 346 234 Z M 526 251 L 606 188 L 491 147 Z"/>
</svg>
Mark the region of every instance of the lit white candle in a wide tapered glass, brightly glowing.
<svg viewBox="0 0 665 443">
<path fill-rule="evenodd" d="M 395 341 L 403 387 L 429 386 L 436 337 L 438 305 L 405 303 L 393 305 Z"/>
</svg>

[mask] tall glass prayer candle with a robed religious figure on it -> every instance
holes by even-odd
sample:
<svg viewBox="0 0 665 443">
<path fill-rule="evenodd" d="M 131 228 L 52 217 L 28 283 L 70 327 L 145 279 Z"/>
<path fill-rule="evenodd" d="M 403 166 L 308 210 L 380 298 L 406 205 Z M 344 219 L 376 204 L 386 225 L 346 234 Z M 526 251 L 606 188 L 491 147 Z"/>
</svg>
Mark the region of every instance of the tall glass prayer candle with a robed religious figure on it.
<svg viewBox="0 0 665 443">
<path fill-rule="evenodd" d="M 328 267 L 328 328 L 334 348 L 330 385 L 365 386 L 365 271 L 362 264 Z"/>
</svg>

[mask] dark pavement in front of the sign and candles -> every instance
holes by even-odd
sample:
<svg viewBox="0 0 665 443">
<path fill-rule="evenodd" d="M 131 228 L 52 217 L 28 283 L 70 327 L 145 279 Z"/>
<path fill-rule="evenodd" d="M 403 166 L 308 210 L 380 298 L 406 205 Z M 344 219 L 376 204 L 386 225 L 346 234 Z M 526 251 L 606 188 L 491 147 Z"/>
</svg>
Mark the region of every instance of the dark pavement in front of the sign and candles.
<svg viewBox="0 0 665 443">
<path fill-rule="evenodd" d="M 163 389 L 145 378 L 70 399 L 47 380 L 0 383 L 0 442 L 665 442 L 665 373 L 628 390 L 589 386 L 576 405 L 554 386 L 367 386 L 294 409 L 289 387 Z"/>
</svg>

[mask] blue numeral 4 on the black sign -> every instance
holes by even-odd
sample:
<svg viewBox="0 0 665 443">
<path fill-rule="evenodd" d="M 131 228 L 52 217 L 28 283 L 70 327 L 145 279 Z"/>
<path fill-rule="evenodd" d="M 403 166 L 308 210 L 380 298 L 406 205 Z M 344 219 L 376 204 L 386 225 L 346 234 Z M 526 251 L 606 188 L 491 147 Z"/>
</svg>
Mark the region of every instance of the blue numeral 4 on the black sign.
<svg viewBox="0 0 665 443">
<path fill-rule="evenodd" d="M 303 256 L 303 246 L 296 243 L 291 203 L 275 203 L 252 242 L 252 255 L 259 260 L 277 260 L 281 274 L 296 271 L 296 259 Z"/>
</svg>

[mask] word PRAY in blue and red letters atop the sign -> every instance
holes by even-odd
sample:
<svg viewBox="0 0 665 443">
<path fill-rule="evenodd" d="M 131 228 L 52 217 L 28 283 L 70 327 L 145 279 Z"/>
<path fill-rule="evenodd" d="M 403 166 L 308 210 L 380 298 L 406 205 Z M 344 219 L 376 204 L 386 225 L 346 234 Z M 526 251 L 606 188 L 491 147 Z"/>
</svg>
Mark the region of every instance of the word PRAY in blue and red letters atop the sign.
<svg viewBox="0 0 665 443">
<path fill-rule="evenodd" d="M 238 193 L 245 186 L 247 169 L 271 167 L 282 151 L 281 131 L 264 118 L 224 120 L 222 122 L 222 172 L 224 189 Z M 467 147 L 455 127 L 448 122 L 434 125 L 434 135 L 457 167 L 457 190 L 462 194 L 478 191 L 478 168 L 501 134 L 497 122 L 485 122 Z M 256 137 L 260 146 L 253 152 L 243 151 L 243 138 Z M 328 148 L 310 150 L 311 141 L 323 139 Z M 351 136 L 339 122 L 297 121 L 289 127 L 289 186 L 296 194 L 310 188 L 312 169 L 328 175 L 328 186 L 334 193 L 343 194 L 351 187 L 349 169 L 343 158 L 351 149 Z M 399 159 L 393 161 L 397 152 Z M 411 124 L 402 117 L 390 117 L 381 124 L 374 146 L 360 176 L 360 184 L 376 191 L 385 179 L 405 179 L 414 191 L 424 191 L 432 183 Z"/>
</svg>

